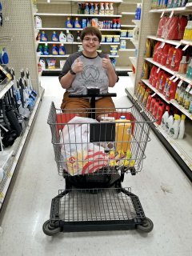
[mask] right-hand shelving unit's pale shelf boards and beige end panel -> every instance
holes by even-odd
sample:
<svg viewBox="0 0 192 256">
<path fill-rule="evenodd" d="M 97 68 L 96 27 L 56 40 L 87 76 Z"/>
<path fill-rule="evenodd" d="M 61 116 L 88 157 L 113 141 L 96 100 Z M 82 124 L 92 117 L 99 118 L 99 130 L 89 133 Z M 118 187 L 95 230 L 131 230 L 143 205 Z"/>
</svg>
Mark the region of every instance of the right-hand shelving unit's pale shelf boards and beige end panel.
<svg viewBox="0 0 192 256">
<path fill-rule="evenodd" d="M 151 64 L 158 66 L 160 69 L 165 70 L 166 72 L 172 74 L 175 78 L 181 79 L 182 81 L 186 81 L 188 83 L 192 83 L 192 80 L 186 78 L 186 74 L 179 74 L 173 70 L 168 69 L 166 66 L 162 66 L 158 62 L 154 62 L 153 58 L 144 58 L 144 53 L 146 50 L 146 38 L 150 38 L 151 40 L 170 43 L 173 46 L 191 46 L 192 42 L 187 42 L 185 40 L 176 41 L 176 40 L 166 40 L 164 38 L 158 38 L 154 36 L 157 33 L 158 22 L 160 19 L 160 14 L 162 13 L 170 13 L 170 14 L 192 14 L 192 9 L 187 7 L 182 8 L 172 8 L 168 10 L 150 10 L 150 2 L 142 1 L 142 21 L 141 24 L 147 23 L 147 26 L 141 26 L 140 28 L 140 37 L 139 37 L 139 46 L 138 46 L 138 62 L 137 62 L 137 70 L 135 75 L 135 86 L 140 81 L 140 77 L 142 74 L 142 66 L 143 62 L 150 62 Z M 183 114 L 186 114 L 186 133 L 185 137 L 182 140 L 174 140 L 170 138 L 169 134 L 166 134 L 164 130 L 162 130 L 161 126 L 155 124 L 152 126 L 154 133 L 160 139 L 162 144 L 166 146 L 166 149 L 170 152 L 170 154 L 174 157 L 175 161 L 178 162 L 178 165 L 181 166 L 182 170 L 186 173 L 187 177 L 192 181 L 192 114 L 189 113 L 184 107 L 178 105 L 178 102 L 175 100 L 167 101 L 164 95 L 160 94 L 156 88 L 150 85 L 148 80 L 142 80 L 142 82 L 148 86 L 154 93 L 158 94 L 162 100 L 166 102 L 166 104 L 170 104 L 178 108 Z M 131 95 L 128 88 L 126 89 L 126 93 L 128 97 L 131 99 L 137 99 L 136 96 Z M 138 102 L 138 106 L 139 106 Z M 146 118 L 147 119 L 147 118 Z"/>
</svg>

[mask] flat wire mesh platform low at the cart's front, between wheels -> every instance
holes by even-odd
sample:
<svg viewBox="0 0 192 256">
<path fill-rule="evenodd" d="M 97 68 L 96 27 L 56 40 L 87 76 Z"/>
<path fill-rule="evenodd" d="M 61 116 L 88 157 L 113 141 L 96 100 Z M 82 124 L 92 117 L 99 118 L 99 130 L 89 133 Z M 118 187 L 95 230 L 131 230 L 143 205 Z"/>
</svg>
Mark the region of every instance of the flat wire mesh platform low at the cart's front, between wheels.
<svg viewBox="0 0 192 256">
<path fill-rule="evenodd" d="M 94 194 L 93 194 L 94 191 Z M 63 194 L 64 193 L 64 194 Z M 145 218 L 141 203 L 130 188 L 102 190 L 59 190 L 52 201 L 51 221 L 101 222 Z"/>
</svg>

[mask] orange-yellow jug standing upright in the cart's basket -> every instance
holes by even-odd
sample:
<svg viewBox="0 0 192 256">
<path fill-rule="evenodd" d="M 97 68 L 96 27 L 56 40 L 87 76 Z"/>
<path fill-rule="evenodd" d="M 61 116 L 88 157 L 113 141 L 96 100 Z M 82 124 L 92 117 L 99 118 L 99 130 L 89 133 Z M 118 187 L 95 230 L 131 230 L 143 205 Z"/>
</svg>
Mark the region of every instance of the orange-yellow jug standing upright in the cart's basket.
<svg viewBox="0 0 192 256">
<path fill-rule="evenodd" d="M 130 150 L 131 141 L 131 122 L 125 116 L 115 120 L 115 142 L 116 151 L 122 150 L 126 153 Z"/>
</svg>

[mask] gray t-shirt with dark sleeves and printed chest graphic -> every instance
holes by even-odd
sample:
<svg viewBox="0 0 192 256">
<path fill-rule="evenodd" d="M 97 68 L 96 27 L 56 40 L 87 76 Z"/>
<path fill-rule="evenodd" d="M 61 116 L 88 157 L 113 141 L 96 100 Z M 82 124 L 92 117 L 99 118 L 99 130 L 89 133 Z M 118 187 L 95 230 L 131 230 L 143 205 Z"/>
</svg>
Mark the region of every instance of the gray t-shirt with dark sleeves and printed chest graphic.
<svg viewBox="0 0 192 256">
<path fill-rule="evenodd" d="M 100 93 L 107 93 L 109 86 L 109 78 L 106 74 L 106 69 L 102 67 L 102 58 L 106 58 L 106 54 L 99 54 L 95 58 L 87 58 L 82 52 L 71 54 L 67 58 L 65 65 L 62 68 L 62 72 L 59 75 L 59 80 L 67 74 L 72 68 L 74 63 L 77 62 L 77 58 L 83 62 L 84 68 L 82 72 L 75 75 L 69 89 L 66 91 L 74 94 L 86 94 L 86 87 L 98 87 Z"/>
</svg>

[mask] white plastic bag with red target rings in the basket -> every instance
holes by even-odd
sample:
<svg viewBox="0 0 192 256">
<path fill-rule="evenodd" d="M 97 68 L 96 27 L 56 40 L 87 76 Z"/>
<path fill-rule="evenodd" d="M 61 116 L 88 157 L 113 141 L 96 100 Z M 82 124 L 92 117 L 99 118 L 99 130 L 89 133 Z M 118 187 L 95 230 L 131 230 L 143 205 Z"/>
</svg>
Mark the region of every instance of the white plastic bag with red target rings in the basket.
<svg viewBox="0 0 192 256">
<path fill-rule="evenodd" d="M 102 146 L 90 142 L 92 118 L 74 117 L 60 134 L 62 168 L 71 176 L 90 174 L 108 164 Z"/>
</svg>

